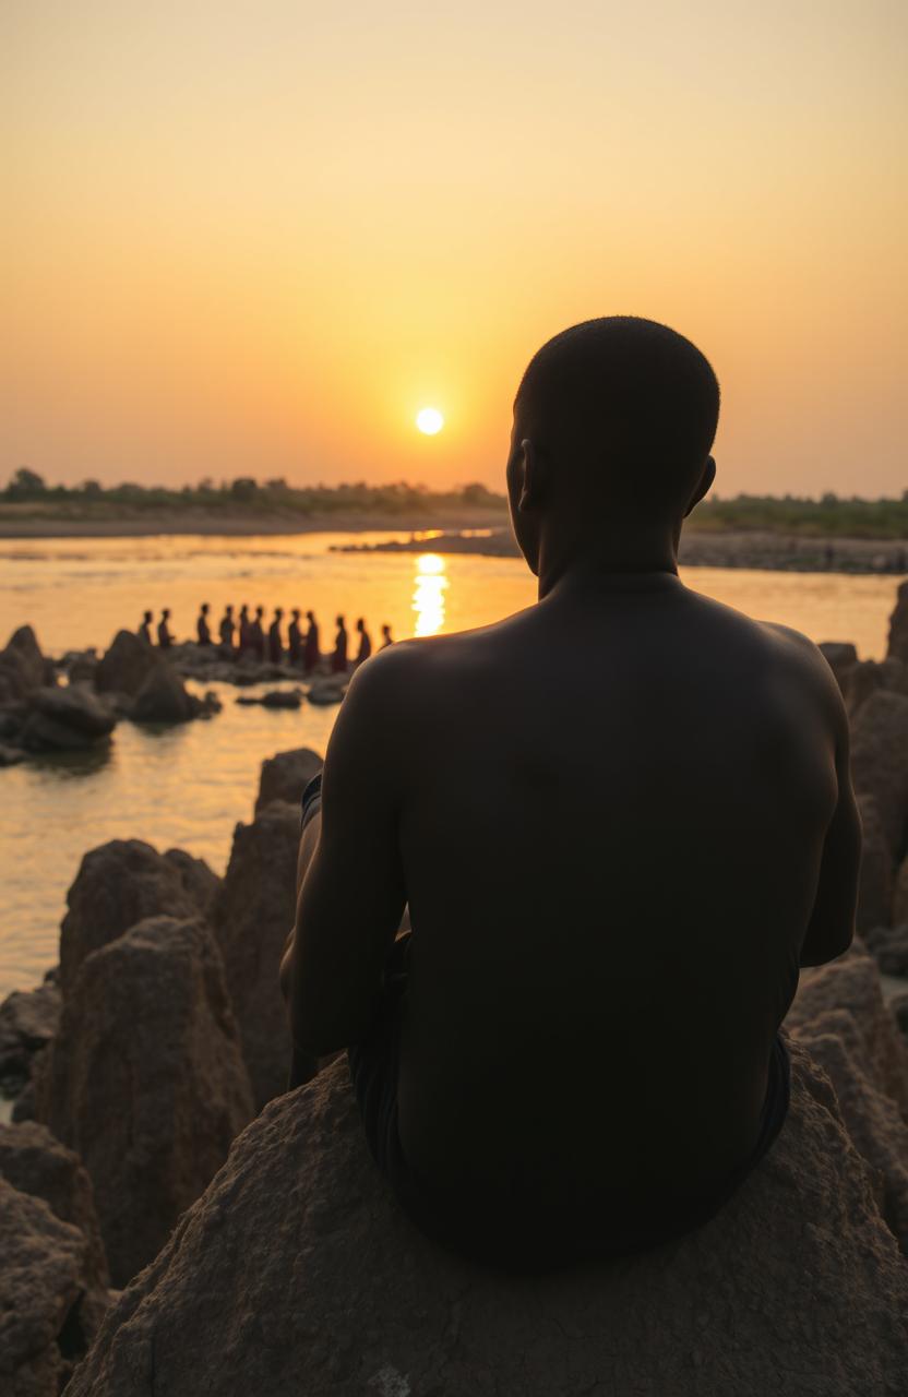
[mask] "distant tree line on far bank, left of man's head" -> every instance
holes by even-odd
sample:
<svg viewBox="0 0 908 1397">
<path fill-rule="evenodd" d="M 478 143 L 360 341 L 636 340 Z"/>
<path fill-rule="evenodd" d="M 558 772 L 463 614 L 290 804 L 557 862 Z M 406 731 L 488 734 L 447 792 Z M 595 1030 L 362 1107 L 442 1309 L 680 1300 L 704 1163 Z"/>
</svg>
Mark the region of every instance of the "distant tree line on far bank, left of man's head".
<svg viewBox="0 0 908 1397">
<path fill-rule="evenodd" d="M 27 467 L 20 467 L 7 488 L 0 490 L 0 503 L 67 506 L 80 513 L 87 509 L 92 514 L 137 514 L 148 511 L 204 509 L 221 510 L 225 514 L 413 514 L 425 509 L 464 507 L 503 510 L 506 499 L 486 489 L 485 485 L 464 485 L 454 490 L 430 490 L 425 485 L 407 485 L 404 481 L 391 485 L 288 485 L 278 476 L 270 481 L 256 481 L 240 475 L 233 481 L 211 478 L 197 485 L 169 489 L 162 485 L 103 486 L 99 481 L 82 481 L 81 485 L 47 485 L 43 476 Z"/>
</svg>

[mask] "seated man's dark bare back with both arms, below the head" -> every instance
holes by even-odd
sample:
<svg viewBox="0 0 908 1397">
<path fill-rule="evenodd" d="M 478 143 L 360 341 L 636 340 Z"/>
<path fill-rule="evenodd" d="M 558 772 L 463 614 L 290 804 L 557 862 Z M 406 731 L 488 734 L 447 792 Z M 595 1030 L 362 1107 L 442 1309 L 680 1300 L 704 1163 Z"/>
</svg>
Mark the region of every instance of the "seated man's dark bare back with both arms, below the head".
<svg viewBox="0 0 908 1397">
<path fill-rule="evenodd" d="M 546 577 L 545 539 L 521 542 L 536 606 L 398 644 L 351 686 L 293 1024 L 313 1051 L 367 1032 L 407 902 L 415 1176 L 489 1217 L 683 1210 L 754 1148 L 799 965 L 851 940 L 842 704 L 809 641 L 690 591 L 673 557 L 574 545 Z"/>
</svg>

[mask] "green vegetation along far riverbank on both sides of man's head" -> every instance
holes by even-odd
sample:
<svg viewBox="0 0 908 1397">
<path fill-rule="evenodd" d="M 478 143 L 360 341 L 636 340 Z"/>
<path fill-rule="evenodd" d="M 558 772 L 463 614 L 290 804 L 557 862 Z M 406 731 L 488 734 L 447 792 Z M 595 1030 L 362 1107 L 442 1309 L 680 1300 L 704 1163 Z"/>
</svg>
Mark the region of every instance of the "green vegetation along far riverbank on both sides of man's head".
<svg viewBox="0 0 908 1397">
<path fill-rule="evenodd" d="M 0 507 L 15 506 L 20 517 L 117 520 L 144 514 L 205 511 L 225 518 L 321 515 L 376 515 L 381 518 L 439 514 L 458 510 L 500 511 L 507 502 L 485 485 L 430 490 L 425 485 L 288 485 L 285 479 L 203 479 L 182 489 L 127 482 L 105 488 L 98 481 L 81 485 L 47 485 L 25 467 L 0 490 Z M 771 532 L 813 538 L 908 539 L 908 490 L 901 499 L 865 500 L 856 495 L 820 499 L 785 495 L 710 496 L 697 507 L 690 528 L 701 532 Z"/>
</svg>

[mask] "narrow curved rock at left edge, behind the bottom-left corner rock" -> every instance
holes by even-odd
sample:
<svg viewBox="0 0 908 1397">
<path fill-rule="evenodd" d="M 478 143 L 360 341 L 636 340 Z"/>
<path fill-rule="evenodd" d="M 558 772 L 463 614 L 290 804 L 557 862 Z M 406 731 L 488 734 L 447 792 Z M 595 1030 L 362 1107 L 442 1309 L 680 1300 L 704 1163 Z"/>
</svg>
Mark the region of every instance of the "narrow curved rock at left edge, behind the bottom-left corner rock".
<svg viewBox="0 0 908 1397">
<path fill-rule="evenodd" d="M 109 1285 L 108 1259 L 91 1179 L 78 1155 L 36 1122 L 0 1125 L 0 1178 L 22 1193 L 43 1199 L 63 1222 L 80 1229 L 87 1243 L 88 1285 L 103 1294 Z"/>
</svg>

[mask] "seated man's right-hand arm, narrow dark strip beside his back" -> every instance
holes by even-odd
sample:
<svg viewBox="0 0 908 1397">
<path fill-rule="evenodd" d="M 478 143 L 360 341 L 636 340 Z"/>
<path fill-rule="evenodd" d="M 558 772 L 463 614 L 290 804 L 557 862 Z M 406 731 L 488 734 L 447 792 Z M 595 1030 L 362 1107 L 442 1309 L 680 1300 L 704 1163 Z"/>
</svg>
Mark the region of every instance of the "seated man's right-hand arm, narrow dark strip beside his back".
<svg viewBox="0 0 908 1397">
<path fill-rule="evenodd" d="M 821 664 L 828 669 L 824 659 Z M 824 965 L 851 946 L 861 873 L 861 816 L 851 784 L 848 715 L 831 673 L 823 682 L 835 736 L 838 802 L 826 831 L 817 893 L 800 946 L 802 965 Z"/>
</svg>

